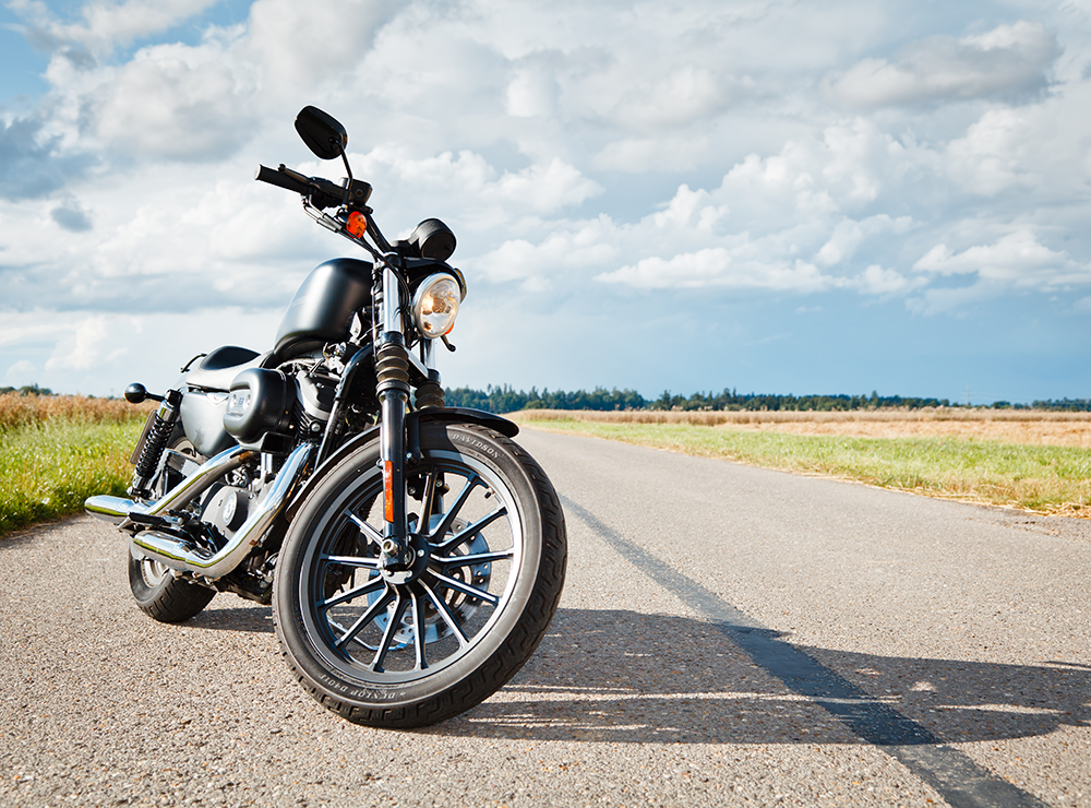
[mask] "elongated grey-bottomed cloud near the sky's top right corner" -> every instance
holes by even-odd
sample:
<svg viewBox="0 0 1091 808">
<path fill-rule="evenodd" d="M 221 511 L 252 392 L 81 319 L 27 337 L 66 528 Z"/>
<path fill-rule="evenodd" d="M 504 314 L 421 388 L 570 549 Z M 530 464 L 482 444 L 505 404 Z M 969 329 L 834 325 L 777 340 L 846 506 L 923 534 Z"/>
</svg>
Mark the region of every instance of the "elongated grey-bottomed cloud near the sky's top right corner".
<svg viewBox="0 0 1091 808">
<path fill-rule="evenodd" d="M 1042 91 L 1060 55 L 1041 23 L 1020 21 L 981 35 L 930 37 L 896 57 L 864 59 L 824 82 L 847 107 L 914 105 L 970 98 L 1019 99 Z"/>
</svg>

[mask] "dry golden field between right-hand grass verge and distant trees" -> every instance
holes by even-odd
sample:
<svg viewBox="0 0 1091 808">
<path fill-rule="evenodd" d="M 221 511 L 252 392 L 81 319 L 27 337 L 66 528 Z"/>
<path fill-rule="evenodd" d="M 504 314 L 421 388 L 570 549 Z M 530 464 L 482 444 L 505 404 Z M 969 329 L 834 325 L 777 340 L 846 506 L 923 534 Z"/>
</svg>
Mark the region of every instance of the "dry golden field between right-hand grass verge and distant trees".
<svg viewBox="0 0 1091 808">
<path fill-rule="evenodd" d="M 1091 449 L 1091 413 L 1020 409 L 864 409 L 852 412 L 525 411 L 520 420 L 575 418 L 606 424 L 692 424 L 792 435 L 856 438 L 955 438 Z"/>
</svg>

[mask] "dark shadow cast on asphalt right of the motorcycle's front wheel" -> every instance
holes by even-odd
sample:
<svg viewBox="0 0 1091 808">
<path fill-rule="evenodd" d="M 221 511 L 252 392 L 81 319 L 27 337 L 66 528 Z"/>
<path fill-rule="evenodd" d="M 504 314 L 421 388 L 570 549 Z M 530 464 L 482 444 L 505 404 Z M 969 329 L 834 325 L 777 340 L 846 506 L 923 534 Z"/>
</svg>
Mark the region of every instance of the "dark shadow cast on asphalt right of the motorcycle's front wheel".
<svg viewBox="0 0 1091 808">
<path fill-rule="evenodd" d="M 1089 666 L 876 656 L 787 643 L 784 651 L 803 652 L 851 682 L 863 691 L 861 705 L 897 711 L 947 742 L 1091 726 Z M 722 627 L 585 609 L 559 610 L 537 653 L 496 696 L 423 732 L 640 744 L 864 742 L 755 664 Z"/>
</svg>

